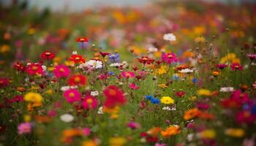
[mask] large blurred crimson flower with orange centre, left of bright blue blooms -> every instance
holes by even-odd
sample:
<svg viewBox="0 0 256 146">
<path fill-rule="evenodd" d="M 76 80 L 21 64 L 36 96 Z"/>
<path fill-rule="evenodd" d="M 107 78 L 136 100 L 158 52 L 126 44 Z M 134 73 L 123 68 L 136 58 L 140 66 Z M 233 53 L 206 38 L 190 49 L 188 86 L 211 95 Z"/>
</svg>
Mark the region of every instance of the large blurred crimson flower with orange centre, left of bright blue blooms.
<svg viewBox="0 0 256 146">
<path fill-rule="evenodd" d="M 124 104 L 126 101 L 123 91 L 118 89 L 116 85 L 109 85 L 103 92 L 106 96 L 105 107 L 115 107 L 118 104 Z"/>
</svg>

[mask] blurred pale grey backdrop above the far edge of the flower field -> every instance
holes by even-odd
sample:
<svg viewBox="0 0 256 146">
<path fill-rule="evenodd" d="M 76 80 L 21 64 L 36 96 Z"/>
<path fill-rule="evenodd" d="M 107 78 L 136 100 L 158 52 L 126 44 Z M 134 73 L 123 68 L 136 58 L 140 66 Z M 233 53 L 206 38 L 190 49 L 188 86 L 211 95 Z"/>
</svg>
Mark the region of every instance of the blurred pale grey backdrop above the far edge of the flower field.
<svg viewBox="0 0 256 146">
<path fill-rule="evenodd" d="M 53 11 L 58 11 L 61 9 L 69 9 L 69 11 L 81 11 L 87 8 L 97 8 L 102 6 L 111 6 L 111 7 L 141 7 L 147 4 L 151 4 L 152 2 L 159 0 L 0 0 L 1 4 L 8 6 L 12 4 L 12 2 L 22 2 L 27 1 L 29 7 L 37 7 L 38 9 L 44 9 L 45 7 L 49 7 Z M 164 1 L 173 1 L 173 0 L 164 0 Z M 182 1 L 182 0 L 181 0 Z M 221 2 L 225 4 L 241 4 L 243 2 L 253 2 L 255 0 L 203 0 L 208 2 Z"/>
</svg>

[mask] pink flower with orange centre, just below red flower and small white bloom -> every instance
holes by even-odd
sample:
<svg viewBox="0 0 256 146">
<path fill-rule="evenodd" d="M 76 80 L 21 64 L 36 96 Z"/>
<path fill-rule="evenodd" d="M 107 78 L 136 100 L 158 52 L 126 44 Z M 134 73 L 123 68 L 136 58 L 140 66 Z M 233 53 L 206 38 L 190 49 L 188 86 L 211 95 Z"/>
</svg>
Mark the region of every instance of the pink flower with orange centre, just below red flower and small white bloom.
<svg viewBox="0 0 256 146">
<path fill-rule="evenodd" d="M 75 101 L 80 101 L 81 94 L 77 89 L 69 89 L 64 92 L 64 97 L 67 100 L 67 102 L 72 103 Z"/>
</svg>

